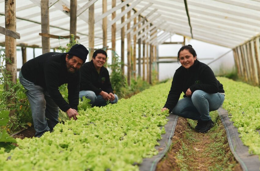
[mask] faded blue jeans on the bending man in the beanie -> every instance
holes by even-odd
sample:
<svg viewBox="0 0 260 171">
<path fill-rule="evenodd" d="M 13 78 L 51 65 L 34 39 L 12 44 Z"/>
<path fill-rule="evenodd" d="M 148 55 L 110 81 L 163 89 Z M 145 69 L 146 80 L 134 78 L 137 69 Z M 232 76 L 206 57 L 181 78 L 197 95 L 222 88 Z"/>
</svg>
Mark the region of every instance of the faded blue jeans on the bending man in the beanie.
<svg viewBox="0 0 260 171">
<path fill-rule="evenodd" d="M 49 93 L 43 87 L 35 85 L 26 80 L 21 71 L 19 81 L 24 86 L 26 96 L 32 109 L 32 119 L 35 129 L 35 136 L 40 137 L 47 131 L 52 131 L 54 126 L 59 123 L 59 107 L 52 100 Z"/>
</svg>

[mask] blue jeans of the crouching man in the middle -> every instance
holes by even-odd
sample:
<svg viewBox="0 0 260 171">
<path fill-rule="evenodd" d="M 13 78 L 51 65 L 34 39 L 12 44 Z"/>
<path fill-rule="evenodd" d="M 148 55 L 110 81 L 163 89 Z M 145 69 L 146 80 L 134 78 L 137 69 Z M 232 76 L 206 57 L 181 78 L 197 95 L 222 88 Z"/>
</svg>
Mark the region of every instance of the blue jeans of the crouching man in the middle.
<svg viewBox="0 0 260 171">
<path fill-rule="evenodd" d="M 87 90 L 82 90 L 80 91 L 80 99 L 82 100 L 82 97 L 85 96 L 87 99 L 90 99 L 91 101 L 89 102 L 92 106 L 106 106 L 106 100 L 103 99 L 101 95 L 96 96 L 96 94 L 93 91 L 87 91 Z M 116 94 L 114 94 L 115 100 L 110 101 L 111 104 L 115 104 L 118 101 L 118 97 Z"/>
</svg>

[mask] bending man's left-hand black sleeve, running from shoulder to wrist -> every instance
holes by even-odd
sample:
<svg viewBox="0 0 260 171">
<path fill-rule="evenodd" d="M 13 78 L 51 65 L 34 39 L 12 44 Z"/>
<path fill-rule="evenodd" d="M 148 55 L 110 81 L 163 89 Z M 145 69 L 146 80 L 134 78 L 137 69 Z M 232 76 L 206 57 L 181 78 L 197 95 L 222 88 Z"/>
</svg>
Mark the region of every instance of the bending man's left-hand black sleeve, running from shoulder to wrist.
<svg viewBox="0 0 260 171">
<path fill-rule="evenodd" d="M 60 91 L 59 91 L 59 67 L 54 62 L 47 62 L 44 66 L 44 77 L 46 82 L 46 88 L 50 97 L 58 105 L 58 107 L 66 112 L 70 105 L 64 100 Z"/>
</svg>

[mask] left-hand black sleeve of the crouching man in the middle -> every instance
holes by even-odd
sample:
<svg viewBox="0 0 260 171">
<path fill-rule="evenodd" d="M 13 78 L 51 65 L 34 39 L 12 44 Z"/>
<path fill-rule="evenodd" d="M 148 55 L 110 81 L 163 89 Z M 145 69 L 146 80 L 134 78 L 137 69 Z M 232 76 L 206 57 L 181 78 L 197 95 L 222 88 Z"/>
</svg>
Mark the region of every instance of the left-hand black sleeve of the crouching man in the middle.
<svg viewBox="0 0 260 171">
<path fill-rule="evenodd" d="M 98 95 L 102 90 L 92 84 L 92 72 L 93 71 L 91 71 L 91 68 L 88 66 L 83 66 L 80 68 L 80 90 L 93 91 L 96 95 Z"/>
</svg>

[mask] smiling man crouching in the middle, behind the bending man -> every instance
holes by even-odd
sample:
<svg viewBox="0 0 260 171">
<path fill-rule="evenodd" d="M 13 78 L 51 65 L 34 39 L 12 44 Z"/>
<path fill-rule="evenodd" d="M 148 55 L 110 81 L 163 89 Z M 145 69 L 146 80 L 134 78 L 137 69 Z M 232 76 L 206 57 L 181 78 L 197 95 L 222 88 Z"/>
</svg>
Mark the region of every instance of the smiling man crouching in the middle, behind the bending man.
<svg viewBox="0 0 260 171">
<path fill-rule="evenodd" d="M 98 49 L 93 53 L 92 60 L 80 68 L 80 98 L 90 99 L 92 106 L 106 106 L 107 102 L 115 104 L 118 97 L 113 93 L 106 63 L 106 51 Z"/>
</svg>

